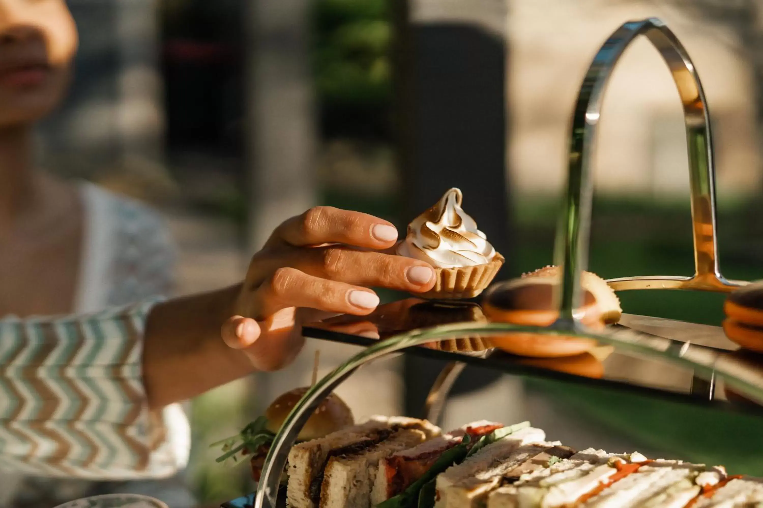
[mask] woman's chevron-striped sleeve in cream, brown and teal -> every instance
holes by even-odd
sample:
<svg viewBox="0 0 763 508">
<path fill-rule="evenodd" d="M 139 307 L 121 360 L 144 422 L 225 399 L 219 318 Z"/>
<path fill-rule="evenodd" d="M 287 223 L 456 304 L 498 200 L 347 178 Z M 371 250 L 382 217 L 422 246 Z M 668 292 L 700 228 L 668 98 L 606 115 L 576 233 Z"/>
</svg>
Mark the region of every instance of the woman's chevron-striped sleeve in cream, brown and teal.
<svg viewBox="0 0 763 508">
<path fill-rule="evenodd" d="M 185 465 L 166 414 L 146 406 L 143 331 L 155 302 L 0 319 L 0 469 L 103 480 Z"/>
</svg>

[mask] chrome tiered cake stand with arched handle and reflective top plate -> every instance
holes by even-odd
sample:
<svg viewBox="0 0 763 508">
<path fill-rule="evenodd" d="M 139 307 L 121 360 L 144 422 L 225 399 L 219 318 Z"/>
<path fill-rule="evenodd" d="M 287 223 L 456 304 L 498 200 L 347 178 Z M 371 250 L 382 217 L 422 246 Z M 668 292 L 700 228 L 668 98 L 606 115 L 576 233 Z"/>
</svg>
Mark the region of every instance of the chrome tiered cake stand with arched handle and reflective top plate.
<svg viewBox="0 0 763 508">
<path fill-rule="evenodd" d="M 448 360 L 430 391 L 424 416 L 437 422 L 449 388 L 462 371 L 472 364 L 488 369 L 531 378 L 560 379 L 565 382 L 597 385 L 605 389 L 636 392 L 649 397 L 669 398 L 687 404 L 704 404 L 718 411 L 748 411 L 761 414 L 756 404 L 732 404 L 716 397 L 718 384 L 732 388 L 749 401 L 763 404 L 763 366 L 736 351 L 736 344 L 726 339 L 720 327 L 683 323 L 647 316 L 623 315 L 620 324 L 594 333 L 573 318 L 578 307 L 581 272 L 588 263 L 589 228 L 593 184 L 591 161 L 607 81 L 626 47 L 640 35 L 645 36 L 668 65 L 681 96 L 686 123 L 687 149 L 691 176 L 691 216 L 694 228 L 694 266 L 691 277 L 636 276 L 608 280 L 615 291 L 629 289 L 684 289 L 691 291 L 731 292 L 746 283 L 726 280 L 720 273 L 716 242 L 716 196 L 713 169 L 713 145 L 710 117 L 700 78 L 684 46 L 665 24 L 655 18 L 630 21 L 618 28 L 594 57 L 585 75 L 570 133 L 568 187 L 565 206 L 558 226 L 556 264 L 562 267 L 558 321 L 549 327 L 517 326 L 506 323 L 450 322 L 435 327 L 410 329 L 415 320 L 407 320 L 417 308 L 416 301 L 396 302 L 380 308 L 375 315 L 353 321 L 333 321 L 304 327 L 304 336 L 364 346 L 317 382 L 291 412 L 266 458 L 262 479 L 255 493 L 225 503 L 228 508 L 275 508 L 278 484 L 285 468 L 289 449 L 314 408 L 331 391 L 365 363 L 392 353 L 409 353 Z M 422 304 L 427 305 L 427 304 Z M 432 304 L 430 304 L 432 305 Z M 469 305 L 469 304 L 464 304 Z M 447 312 L 444 312 L 447 315 Z M 363 321 L 365 320 L 365 321 Z M 444 319 L 443 322 L 453 321 Z M 373 327 L 382 340 L 362 337 L 357 331 Z M 564 334 L 591 337 L 614 347 L 615 354 L 627 356 L 633 363 L 651 361 L 667 364 L 668 369 L 690 372 L 684 385 L 655 385 L 643 375 L 589 377 L 574 372 L 529 363 L 526 359 L 490 348 L 459 347 L 469 344 L 469 337 L 491 337 L 516 332 Z M 387 338 L 388 337 L 388 338 Z M 456 347 L 437 347 L 445 341 Z M 473 346 L 473 344 L 472 344 Z M 564 369 L 562 369 L 564 371 Z"/>
</svg>

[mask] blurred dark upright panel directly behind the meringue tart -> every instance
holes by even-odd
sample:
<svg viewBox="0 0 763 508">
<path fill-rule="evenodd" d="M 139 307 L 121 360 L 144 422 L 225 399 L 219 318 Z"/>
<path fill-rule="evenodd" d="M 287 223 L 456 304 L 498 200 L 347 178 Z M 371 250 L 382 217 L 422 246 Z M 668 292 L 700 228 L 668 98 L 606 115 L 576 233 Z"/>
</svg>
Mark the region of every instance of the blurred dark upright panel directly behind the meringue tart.
<svg viewBox="0 0 763 508">
<path fill-rule="evenodd" d="M 427 2 L 410 0 L 407 7 Z M 506 38 L 473 21 L 414 20 L 404 2 L 395 3 L 397 148 L 405 215 L 417 216 L 449 187 L 459 187 L 465 210 L 479 218 L 480 229 L 510 263 Z M 473 7 L 479 10 L 485 3 Z M 502 274 L 509 271 L 504 267 Z M 442 367 L 405 358 L 406 414 L 420 414 Z M 452 393 L 473 391 L 499 377 L 467 369 Z"/>
</svg>

